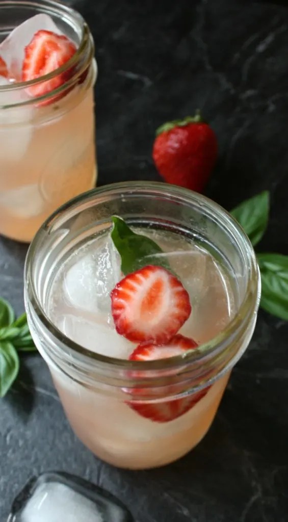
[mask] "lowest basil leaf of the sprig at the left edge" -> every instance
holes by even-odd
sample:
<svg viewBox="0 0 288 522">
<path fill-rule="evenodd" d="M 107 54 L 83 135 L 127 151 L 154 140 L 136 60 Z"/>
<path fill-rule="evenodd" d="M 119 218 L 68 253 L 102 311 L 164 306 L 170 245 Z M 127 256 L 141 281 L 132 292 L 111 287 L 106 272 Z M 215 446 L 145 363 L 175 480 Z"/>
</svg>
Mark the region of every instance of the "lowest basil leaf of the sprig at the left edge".
<svg viewBox="0 0 288 522">
<path fill-rule="evenodd" d="M 11 342 L 0 342 L 0 397 L 4 397 L 19 371 L 18 354 Z"/>
</svg>

